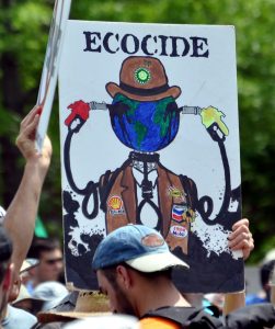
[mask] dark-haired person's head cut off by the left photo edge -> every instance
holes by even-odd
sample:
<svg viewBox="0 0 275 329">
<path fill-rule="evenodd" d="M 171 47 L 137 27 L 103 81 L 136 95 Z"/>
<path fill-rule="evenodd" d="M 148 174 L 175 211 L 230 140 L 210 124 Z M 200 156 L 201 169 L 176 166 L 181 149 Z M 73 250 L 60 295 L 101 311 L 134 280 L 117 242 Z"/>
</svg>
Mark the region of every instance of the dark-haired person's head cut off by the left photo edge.
<svg viewBox="0 0 275 329">
<path fill-rule="evenodd" d="M 4 310 L 12 283 L 12 242 L 5 230 L 0 226 L 0 318 Z"/>
</svg>

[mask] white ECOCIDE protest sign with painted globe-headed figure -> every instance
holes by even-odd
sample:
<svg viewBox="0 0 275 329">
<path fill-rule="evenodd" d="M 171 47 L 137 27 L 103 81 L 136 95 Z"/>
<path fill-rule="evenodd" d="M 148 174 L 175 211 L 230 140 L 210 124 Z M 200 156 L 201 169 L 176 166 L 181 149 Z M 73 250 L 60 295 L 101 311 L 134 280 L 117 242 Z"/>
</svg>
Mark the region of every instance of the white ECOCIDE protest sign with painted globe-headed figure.
<svg viewBox="0 0 275 329">
<path fill-rule="evenodd" d="M 59 70 L 66 280 L 127 224 L 190 264 L 184 292 L 243 288 L 234 29 L 69 21 Z M 231 174 L 233 173 L 233 174 Z"/>
</svg>

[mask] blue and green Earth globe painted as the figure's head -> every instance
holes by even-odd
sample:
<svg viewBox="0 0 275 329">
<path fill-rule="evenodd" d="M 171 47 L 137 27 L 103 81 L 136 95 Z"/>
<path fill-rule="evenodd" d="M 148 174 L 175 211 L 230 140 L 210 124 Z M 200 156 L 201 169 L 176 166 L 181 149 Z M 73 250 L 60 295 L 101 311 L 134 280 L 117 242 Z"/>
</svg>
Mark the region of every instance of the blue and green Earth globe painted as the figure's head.
<svg viewBox="0 0 275 329">
<path fill-rule="evenodd" d="M 179 112 L 168 110 L 173 102 L 171 97 L 138 102 L 116 95 L 110 111 L 115 135 L 124 145 L 138 151 L 153 152 L 167 147 L 174 139 L 180 124 Z M 123 111 L 115 110 L 119 104 L 124 104 Z"/>
</svg>

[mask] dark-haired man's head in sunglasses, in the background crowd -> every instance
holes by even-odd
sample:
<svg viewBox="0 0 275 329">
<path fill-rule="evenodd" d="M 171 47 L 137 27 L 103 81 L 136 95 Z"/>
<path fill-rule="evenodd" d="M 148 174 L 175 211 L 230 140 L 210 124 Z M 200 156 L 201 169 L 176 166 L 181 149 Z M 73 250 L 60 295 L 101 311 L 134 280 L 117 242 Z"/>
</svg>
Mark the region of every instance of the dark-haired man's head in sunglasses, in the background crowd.
<svg viewBox="0 0 275 329">
<path fill-rule="evenodd" d="M 58 281 L 64 270 L 62 251 L 56 239 L 35 239 L 28 252 L 30 258 L 39 260 L 39 265 L 30 270 L 36 283 Z"/>
</svg>

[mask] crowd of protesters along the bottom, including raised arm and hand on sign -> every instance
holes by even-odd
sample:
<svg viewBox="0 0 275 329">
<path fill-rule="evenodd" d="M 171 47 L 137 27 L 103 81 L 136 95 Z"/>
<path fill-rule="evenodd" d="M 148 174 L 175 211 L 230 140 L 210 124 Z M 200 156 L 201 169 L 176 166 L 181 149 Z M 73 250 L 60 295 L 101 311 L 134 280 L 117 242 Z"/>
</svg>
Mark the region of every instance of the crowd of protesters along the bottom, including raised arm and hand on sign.
<svg viewBox="0 0 275 329">
<path fill-rule="evenodd" d="M 113 328 L 169 329 L 188 328 L 192 324 L 200 326 L 195 328 L 273 328 L 275 311 L 266 302 L 273 298 L 271 279 L 275 257 L 263 263 L 261 296 L 247 297 L 248 304 L 256 302 L 262 303 L 261 306 L 245 308 L 243 291 L 218 299 L 205 296 L 199 299 L 200 307 L 196 307 L 192 296 L 176 288 L 171 275 L 175 266 L 188 271 L 188 264 L 170 252 L 157 230 L 142 225 L 121 227 L 99 245 L 90 270 L 96 272 L 100 293 L 67 291 L 59 242 L 33 240 L 39 195 L 51 158 L 48 137 L 41 154 L 35 149 L 39 113 L 41 109 L 35 106 L 21 123 L 16 145 L 25 159 L 24 173 L 7 213 L 0 209 L 2 328 L 66 328 L 68 320 L 85 318 L 96 311 L 105 314 L 96 318 L 101 327 L 90 319 L 88 325 L 77 322 L 76 328 L 108 328 L 103 325 L 106 319 Z M 254 241 L 248 219 L 233 225 L 229 247 L 242 250 L 244 260 L 249 258 Z M 206 298 L 211 306 L 219 300 L 218 308 L 202 310 Z M 124 317 L 111 317 L 111 313 Z"/>
</svg>

